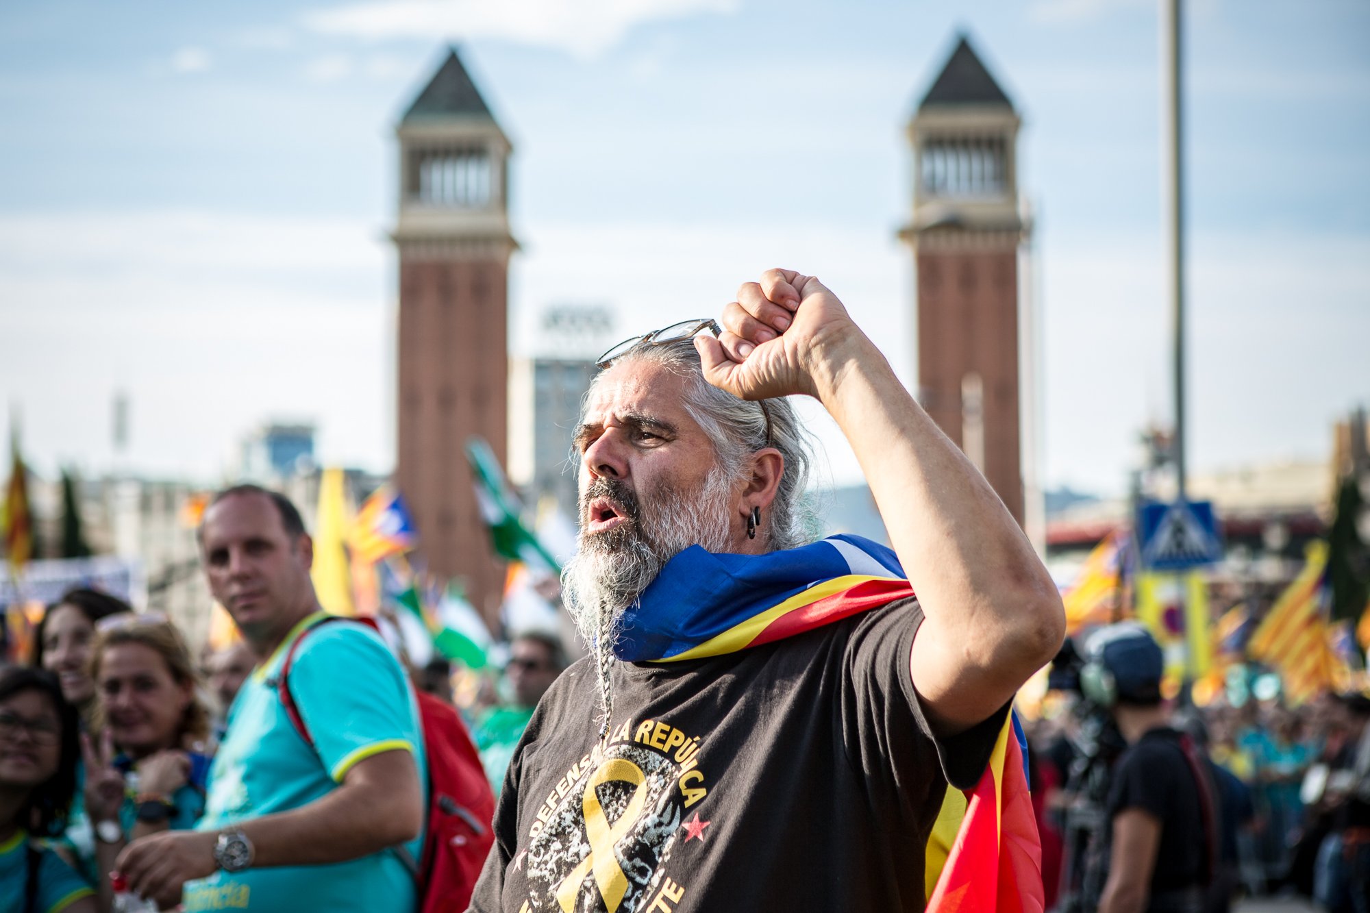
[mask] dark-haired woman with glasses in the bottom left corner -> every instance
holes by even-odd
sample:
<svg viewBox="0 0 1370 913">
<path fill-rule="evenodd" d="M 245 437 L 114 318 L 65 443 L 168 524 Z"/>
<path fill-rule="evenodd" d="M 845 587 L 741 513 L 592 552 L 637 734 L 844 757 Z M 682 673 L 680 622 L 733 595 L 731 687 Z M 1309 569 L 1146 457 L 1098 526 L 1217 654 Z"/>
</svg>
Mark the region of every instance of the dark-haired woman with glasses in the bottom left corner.
<svg viewBox="0 0 1370 913">
<path fill-rule="evenodd" d="M 66 824 L 77 781 L 77 714 L 56 677 L 0 670 L 0 913 L 95 913 L 90 887 L 37 838 Z"/>
</svg>

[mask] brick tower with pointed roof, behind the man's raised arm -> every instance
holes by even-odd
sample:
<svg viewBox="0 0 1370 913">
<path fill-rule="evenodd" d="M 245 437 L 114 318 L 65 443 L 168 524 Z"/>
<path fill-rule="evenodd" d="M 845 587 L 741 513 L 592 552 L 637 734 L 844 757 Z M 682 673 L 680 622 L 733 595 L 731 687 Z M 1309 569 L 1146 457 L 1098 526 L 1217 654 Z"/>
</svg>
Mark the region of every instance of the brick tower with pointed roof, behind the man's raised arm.
<svg viewBox="0 0 1370 913">
<path fill-rule="evenodd" d="M 1012 103 L 962 37 L 908 122 L 918 399 L 1023 522 Z"/>
</svg>

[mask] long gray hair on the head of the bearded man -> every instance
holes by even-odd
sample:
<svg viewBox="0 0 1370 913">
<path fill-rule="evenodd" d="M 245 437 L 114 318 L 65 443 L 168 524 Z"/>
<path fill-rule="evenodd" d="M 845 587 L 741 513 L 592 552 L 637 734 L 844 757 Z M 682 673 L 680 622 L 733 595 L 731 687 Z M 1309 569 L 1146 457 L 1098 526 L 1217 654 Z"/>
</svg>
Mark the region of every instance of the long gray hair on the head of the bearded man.
<svg viewBox="0 0 1370 913">
<path fill-rule="evenodd" d="M 747 472 L 752 454 L 774 447 L 785 461 L 785 469 L 775 491 L 775 499 L 762 511 L 759 532 L 764 533 L 773 551 L 796 548 L 815 539 L 817 520 L 804 488 L 812 465 L 810 435 L 799 422 L 799 414 L 788 398 L 760 403 L 738 399 L 704 380 L 699 352 L 690 340 L 662 344 L 638 344 L 614 359 L 614 365 L 636 361 L 660 365 L 685 378 L 685 411 L 704 429 L 719 466 L 733 481 Z M 592 381 L 585 402 L 604 377 L 601 372 Z M 582 410 L 584 411 L 584 410 Z M 766 415 L 770 415 L 770 440 L 766 436 Z"/>
</svg>

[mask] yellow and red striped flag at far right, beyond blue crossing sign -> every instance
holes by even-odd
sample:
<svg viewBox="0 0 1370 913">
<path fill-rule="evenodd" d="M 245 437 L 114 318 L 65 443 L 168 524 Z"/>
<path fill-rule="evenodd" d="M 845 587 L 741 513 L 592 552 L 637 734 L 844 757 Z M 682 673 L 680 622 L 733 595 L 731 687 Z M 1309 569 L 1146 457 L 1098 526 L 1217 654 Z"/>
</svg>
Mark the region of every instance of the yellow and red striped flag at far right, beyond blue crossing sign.
<svg viewBox="0 0 1370 913">
<path fill-rule="evenodd" d="M 1326 614 L 1328 546 L 1308 544 L 1307 563 L 1280 595 L 1270 613 L 1251 635 L 1247 655 L 1275 668 L 1285 695 L 1303 703 L 1319 691 L 1334 688 L 1344 674 L 1344 661 L 1332 648 Z"/>
</svg>

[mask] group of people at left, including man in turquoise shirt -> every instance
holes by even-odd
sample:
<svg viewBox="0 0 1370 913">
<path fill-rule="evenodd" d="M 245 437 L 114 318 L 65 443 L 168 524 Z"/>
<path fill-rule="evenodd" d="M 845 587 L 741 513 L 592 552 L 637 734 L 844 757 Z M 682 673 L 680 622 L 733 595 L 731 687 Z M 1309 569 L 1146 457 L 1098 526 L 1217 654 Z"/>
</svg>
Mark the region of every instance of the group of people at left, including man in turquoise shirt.
<svg viewBox="0 0 1370 913">
<path fill-rule="evenodd" d="M 414 909 L 416 699 L 451 701 L 451 670 L 408 680 L 360 624 L 312 632 L 308 536 L 281 495 L 229 489 L 200 536 L 241 640 L 196 655 L 171 620 L 78 588 L 44 613 L 32 664 L 0 669 L 0 910 L 285 910 L 301 891 L 311 909 Z M 496 787 L 566 665 L 549 633 L 511 651 L 510 701 L 469 713 Z M 279 694 L 286 653 L 307 739 Z"/>
</svg>

